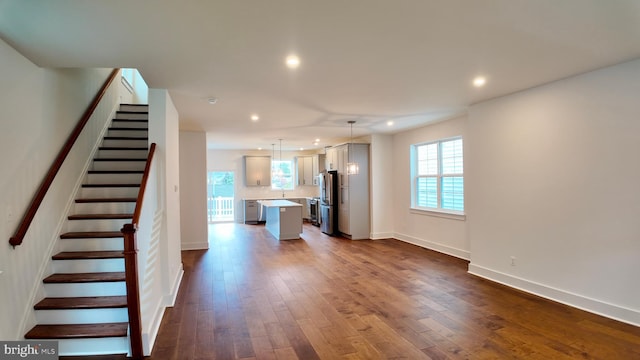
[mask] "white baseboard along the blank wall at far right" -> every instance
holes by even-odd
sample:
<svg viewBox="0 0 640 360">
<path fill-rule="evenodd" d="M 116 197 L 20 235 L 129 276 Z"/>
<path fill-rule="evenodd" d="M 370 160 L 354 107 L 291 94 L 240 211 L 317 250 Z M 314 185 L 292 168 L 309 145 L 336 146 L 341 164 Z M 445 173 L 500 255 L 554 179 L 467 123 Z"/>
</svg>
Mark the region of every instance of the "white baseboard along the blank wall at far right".
<svg viewBox="0 0 640 360">
<path fill-rule="evenodd" d="M 479 265 L 469 264 L 469 273 L 528 292 L 549 300 L 569 305 L 597 315 L 640 326 L 640 311 L 610 304 L 601 300 L 574 294 L 544 284 L 522 279 L 513 275 L 494 271 Z"/>
</svg>

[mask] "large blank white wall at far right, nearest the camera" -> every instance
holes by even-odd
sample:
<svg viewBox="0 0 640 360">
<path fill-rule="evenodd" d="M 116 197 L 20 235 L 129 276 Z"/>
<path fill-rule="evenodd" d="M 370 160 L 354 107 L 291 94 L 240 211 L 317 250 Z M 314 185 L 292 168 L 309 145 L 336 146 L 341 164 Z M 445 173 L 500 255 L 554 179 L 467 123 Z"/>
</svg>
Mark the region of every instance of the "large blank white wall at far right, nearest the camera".
<svg viewBox="0 0 640 360">
<path fill-rule="evenodd" d="M 472 273 L 640 325 L 639 99 L 640 60 L 471 107 Z"/>
</svg>

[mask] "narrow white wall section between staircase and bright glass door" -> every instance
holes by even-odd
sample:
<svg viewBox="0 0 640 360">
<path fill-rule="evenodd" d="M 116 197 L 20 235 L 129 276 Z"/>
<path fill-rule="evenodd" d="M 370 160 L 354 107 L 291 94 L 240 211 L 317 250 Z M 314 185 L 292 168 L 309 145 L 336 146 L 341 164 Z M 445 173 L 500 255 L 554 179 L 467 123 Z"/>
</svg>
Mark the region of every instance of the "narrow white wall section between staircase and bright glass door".
<svg viewBox="0 0 640 360">
<path fill-rule="evenodd" d="M 207 135 L 180 131 L 180 237 L 183 250 L 208 249 Z"/>
</svg>

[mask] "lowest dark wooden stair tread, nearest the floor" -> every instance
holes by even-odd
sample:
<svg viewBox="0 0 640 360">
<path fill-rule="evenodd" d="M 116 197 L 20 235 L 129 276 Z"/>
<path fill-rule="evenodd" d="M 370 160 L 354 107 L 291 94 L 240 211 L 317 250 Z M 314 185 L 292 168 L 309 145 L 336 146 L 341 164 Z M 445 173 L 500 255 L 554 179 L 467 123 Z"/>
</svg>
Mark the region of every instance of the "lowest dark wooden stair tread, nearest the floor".
<svg viewBox="0 0 640 360">
<path fill-rule="evenodd" d="M 26 339 L 88 339 L 127 336 L 128 323 L 36 325 Z"/>
</svg>

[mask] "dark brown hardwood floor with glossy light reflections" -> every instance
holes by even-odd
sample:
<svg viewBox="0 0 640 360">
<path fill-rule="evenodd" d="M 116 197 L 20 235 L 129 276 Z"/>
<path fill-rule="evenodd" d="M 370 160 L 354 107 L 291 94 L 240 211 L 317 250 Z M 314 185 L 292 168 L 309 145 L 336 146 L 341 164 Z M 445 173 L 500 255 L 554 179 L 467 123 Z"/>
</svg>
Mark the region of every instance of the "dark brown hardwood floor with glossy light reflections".
<svg viewBox="0 0 640 360">
<path fill-rule="evenodd" d="M 640 359 L 640 328 L 467 273 L 397 240 L 210 226 L 150 359 Z"/>
</svg>

